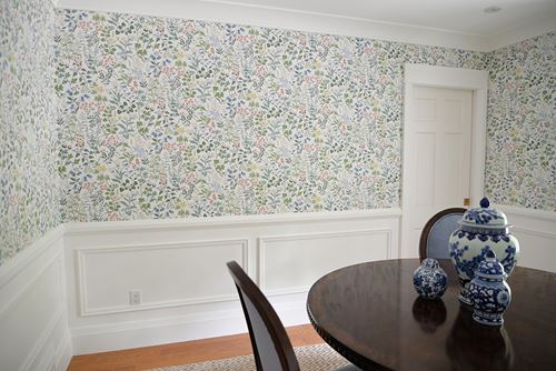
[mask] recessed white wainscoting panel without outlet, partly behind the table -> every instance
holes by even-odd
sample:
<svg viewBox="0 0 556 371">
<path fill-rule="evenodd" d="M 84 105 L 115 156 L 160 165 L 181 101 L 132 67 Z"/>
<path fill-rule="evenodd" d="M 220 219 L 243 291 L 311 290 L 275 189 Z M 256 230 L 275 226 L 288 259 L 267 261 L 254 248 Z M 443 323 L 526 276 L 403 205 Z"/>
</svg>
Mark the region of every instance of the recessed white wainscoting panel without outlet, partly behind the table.
<svg viewBox="0 0 556 371">
<path fill-rule="evenodd" d="M 307 292 L 324 274 L 391 255 L 391 229 L 262 237 L 259 284 L 266 294 Z"/>
</svg>

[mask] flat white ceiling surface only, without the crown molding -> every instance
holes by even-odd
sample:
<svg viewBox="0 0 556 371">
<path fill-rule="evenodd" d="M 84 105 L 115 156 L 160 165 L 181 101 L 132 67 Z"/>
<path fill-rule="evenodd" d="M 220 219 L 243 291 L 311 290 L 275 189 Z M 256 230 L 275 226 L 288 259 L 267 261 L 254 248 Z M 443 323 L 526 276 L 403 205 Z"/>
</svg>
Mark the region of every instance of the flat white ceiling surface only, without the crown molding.
<svg viewBox="0 0 556 371">
<path fill-rule="evenodd" d="M 368 21 L 431 28 L 474 36 L 493 36 L 556 16 L 555 0 L 205 0 L 325 13 Z M 163 2 L 163 1 L 162 1 Z M 502 11 L 485 13 L 498 6 Z"/>
</svg>

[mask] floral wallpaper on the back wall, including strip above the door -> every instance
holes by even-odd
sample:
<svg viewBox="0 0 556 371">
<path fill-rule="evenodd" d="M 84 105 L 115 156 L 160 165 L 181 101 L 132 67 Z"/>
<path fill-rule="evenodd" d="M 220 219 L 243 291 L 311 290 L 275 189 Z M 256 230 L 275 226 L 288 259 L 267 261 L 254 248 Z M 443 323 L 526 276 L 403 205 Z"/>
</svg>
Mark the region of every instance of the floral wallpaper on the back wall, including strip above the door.
<svg viewBox="0 0 556 371">
<path fill-rule="evenodd" d="M 57 12 L 64 221 L 399 204 L 403 66 L 485 54 Z"/>
</svg>

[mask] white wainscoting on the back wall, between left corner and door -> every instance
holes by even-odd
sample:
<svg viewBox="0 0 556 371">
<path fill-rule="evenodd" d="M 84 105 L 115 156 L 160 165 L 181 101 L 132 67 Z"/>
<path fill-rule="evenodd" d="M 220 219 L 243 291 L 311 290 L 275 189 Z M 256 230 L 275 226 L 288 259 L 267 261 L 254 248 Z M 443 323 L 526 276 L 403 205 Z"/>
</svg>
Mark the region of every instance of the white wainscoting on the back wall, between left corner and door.
<svg viewBox="0 0 556 371">
<path fill-rule="evenodd" d="M 246 332 L 237 260 L 286 325 L 308 323 L 310 284 L 398 258 L 399 209 L 66 224 L 76 354 Z M 141 303 L 130 303 L 130 291 Z"/>
</svg>

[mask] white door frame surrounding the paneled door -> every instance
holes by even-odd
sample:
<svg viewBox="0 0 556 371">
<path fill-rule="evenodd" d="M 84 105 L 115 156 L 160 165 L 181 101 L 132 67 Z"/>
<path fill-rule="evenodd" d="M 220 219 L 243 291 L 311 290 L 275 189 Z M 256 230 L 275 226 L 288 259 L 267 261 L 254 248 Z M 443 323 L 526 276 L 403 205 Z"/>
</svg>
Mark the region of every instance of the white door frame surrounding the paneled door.
<svg viewBox="0 0 556 371">
<path fill-rule="evenodd" d="M 471 114 L 471 159 L 470 159 L 470 204 L 474 205 L 484 195 L 485 182 L 485 153 L 486 153 L 486 114 L 487 114 L 487 89 L 488 72 L 479 70 L 469 70 L 463 68 L 437 67 L 427 64 L 405 64 L 405 86 L 404 86 L 404 133 L 407 133 L 408 122 L 414 117 L 410 102 L 414 99 L 414 87 L 430 87 L 445 89 L 464 89 L 473 91 L 473 114 Z M 403 148 L 407 148 L 407 138 L 404 134 Z M 419 247 L 409 247 L 407 218 L 405 211 L 406 197 L 408 190 L 414 184 L 408 184 L 407 151 L 403 150 L 403 178 L 401 178 L 401 245 L 400 258 L 415 258 L 418 255 Z M 433 215 L 430 215 L 433 217 Z"/>
</svg>

